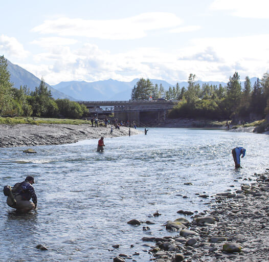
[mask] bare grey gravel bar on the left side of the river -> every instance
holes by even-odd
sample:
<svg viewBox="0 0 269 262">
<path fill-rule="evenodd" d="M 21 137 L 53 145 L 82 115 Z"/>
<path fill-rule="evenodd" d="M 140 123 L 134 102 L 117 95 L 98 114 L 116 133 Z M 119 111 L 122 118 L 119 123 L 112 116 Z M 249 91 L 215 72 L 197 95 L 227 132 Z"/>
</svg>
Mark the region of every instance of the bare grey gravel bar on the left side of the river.
<svg viewBox="0 0 269 262">
<path fill-rule="evenodd" d="M 92 127 L 91 125 L 70 124 L 17 124 L 0 125 L 0 147 L 59 145 L 75 143 L 85 139 L 96 139 L 103 136 L 120 137 L 128 136 L 129 128 L 113 129 L 109 135 L 110 127 Z M 131 136 L 138 135 L 140 130 L 131 128 Z"/>
</svg>

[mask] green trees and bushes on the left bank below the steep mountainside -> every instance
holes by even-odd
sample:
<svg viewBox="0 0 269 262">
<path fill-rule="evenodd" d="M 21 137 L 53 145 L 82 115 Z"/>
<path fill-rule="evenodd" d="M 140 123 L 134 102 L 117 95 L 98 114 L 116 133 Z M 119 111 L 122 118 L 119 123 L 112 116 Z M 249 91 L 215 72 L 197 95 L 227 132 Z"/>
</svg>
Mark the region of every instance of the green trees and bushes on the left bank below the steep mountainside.
<svg viewBox="0 0 269 262">
<path fill-rule="evenodd" d="M 27 86 L 13 87 L 7 59 L 0 56 L 0 116 L 65 117 L 78 119 L 87 108 L 69 99 L 54 99 L 44 79 L 30 91 Z"/>
</svg>

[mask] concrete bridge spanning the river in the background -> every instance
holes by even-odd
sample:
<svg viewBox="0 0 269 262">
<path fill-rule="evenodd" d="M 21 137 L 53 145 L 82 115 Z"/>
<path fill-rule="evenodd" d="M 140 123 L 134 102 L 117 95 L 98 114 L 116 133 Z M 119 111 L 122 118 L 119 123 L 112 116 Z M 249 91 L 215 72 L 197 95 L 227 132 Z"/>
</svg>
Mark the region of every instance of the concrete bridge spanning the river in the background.
<svg viewBox="0 0 269 262">
<path fill-rule="evenodd" d="M 114 113 L 115 118 L 122 121 L 141 122 L 146 118 L 160 120 L 166 118 L 167 111 L 171 110 L 178 100 L 129 100 L 129 101 L 79 101 L 84 104 L 91 115 L 104 118 Z M 141 120 L 142 119 L 142 120 Z"/>
</svg>

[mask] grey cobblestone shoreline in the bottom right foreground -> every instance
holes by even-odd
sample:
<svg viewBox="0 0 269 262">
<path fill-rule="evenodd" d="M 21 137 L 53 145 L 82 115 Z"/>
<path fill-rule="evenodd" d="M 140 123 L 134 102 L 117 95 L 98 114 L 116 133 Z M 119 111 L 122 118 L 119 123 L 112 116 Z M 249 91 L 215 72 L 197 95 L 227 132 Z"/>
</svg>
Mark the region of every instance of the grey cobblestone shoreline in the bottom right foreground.
<svg viewBox="0 0 269 262">
<path fill-rule="evenodd" d="M 269 169 L 262 174 L 255 173 L 254 176 L 255 181 L 251 181 L 251 178 L 244 179 L 252 183 L 242 183 L 240 190 L 233 192 L 228 189 L 216 194 L 208 203 L 209 210 L 196 214 L 189 210 L 178 210 L 181 217 L 164 225 L 168 231 L 177 231 L 178 235 L 143 237 L 144 242 L 155 242 L 149 245 L 148 252 L 152 256 L 150 260 L 268 261 Z M 136 226 L 141 223 L 143 222 L 137 220 L 128 222 Z M 114 262 L 126 261 L 126 256 L 120 254 L 114 258 Z"/>
</svg>

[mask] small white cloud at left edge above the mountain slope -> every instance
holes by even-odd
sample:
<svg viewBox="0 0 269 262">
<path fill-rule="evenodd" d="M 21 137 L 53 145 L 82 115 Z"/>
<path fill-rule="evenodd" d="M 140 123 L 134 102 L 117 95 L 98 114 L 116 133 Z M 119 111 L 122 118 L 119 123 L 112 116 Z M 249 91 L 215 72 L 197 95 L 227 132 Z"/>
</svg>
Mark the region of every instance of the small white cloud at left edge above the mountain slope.
<svg viewBox="0 0 269 262">
<path fill-rule="evenodd" d="M 15 37 L 9 37 L 3 34 L 0 35 L 0 52 L 5 56 L 8 55 L 16 58 L 25 58 L 29 54 Z"/>
</svg>

